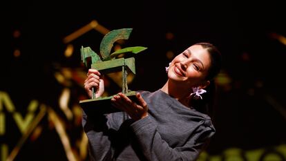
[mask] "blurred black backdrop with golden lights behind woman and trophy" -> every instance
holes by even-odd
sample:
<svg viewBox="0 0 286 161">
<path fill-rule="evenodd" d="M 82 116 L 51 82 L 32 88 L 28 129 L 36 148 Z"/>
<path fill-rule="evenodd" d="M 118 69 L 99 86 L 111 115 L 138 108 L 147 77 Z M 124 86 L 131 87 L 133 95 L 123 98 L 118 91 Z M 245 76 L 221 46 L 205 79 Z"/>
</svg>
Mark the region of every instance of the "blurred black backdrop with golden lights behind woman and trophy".
<svg viewBox="0 0 286 161">
<path fill-rule="evenodd" d="M 155 91 L 173 57 L 199 41 L 223 57 L 216 135 L 199 160 L 286 160 L 283 1 L 11 1 L 2 5 L 0 160 L 88 160 L 80 48 L 133 28 L 114 49 L 144 46 L 128 88 Z M 106 92 L 121 88 L 106 77 Z"/>
</svg>

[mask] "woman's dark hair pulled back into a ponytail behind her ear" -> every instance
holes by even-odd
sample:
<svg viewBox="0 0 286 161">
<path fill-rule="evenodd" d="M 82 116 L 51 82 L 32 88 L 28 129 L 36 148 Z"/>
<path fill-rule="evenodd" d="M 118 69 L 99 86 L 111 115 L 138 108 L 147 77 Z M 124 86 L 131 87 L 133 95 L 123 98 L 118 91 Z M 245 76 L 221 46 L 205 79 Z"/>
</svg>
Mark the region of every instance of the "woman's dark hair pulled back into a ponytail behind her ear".
<svg viewBox="0 0 286 161">
<path fill-rule="evenodd" d="M 214 78 L 220 72 L 222 56 L 218 48 L 213 46 L 213 44 L 202 42 L 195 45 L 200 45 L 202 48 L 206 48 L 209 52 L 209 56 L 211 57 L 211 66 L 209 66 L 207 77 L 205 78 L 210 81 L 210 84 L 205 89 L 207 93 L 202 94 L 202 100 L 191 98 L 191 106 L 193 106 L 197 111 L 213 117 L 213 108 L 216 106 L 216 82 Z"/>
</svg>

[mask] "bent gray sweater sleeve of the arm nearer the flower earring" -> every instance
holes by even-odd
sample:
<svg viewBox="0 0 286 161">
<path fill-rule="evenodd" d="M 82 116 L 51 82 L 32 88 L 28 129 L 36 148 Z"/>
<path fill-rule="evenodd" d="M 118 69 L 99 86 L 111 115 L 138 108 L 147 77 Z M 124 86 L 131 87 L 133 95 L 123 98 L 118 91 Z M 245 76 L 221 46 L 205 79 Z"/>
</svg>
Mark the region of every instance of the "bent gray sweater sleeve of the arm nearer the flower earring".
<svg viewBox="0 0 286 161">
<path fill-rule="evenodd" d="M 145 117 L 131 125 L 147 160 L 196 160 L 204 142 L 215 133 L 208 120 L 202 120 L 196 132 L 183 146 L 171 147 L 163 140 L 150 117 Z"/>
</svg>

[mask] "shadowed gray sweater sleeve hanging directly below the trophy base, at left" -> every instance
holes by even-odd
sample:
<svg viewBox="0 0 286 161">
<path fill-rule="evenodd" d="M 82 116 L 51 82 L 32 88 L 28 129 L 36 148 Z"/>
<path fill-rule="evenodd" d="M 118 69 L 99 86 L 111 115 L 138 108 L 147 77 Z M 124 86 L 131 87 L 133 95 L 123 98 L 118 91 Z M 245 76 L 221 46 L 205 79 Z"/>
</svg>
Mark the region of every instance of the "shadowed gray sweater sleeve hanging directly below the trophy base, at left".
<svg viewBox="0 0 286 161">
<path fill-rule="evenodd" d="M 108 139 L 106 116 L 89 117 L 83 111 L 82 126 L 88 137 L 88 153 L 90 160 L 111 160 L 111 141 Z"/>
</svg>

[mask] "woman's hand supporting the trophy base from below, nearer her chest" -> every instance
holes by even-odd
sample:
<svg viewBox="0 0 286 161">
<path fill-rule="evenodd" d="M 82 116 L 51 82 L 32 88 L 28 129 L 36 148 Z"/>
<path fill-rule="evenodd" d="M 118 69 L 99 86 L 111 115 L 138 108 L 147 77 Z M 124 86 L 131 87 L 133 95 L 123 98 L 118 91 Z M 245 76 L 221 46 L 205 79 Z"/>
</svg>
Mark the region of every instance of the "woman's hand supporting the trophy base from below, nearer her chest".
<svg viewBox="0 0 286 161">
<path fill-rule="evenodd" d="M 148 107 L 140 93 L 136 93 L 137 103 L 130 100 L 123 93 L 113 96 L 113 106 L 125 111 L 133 120 L 137 121 L 148 116 Z"/>
</svg>

